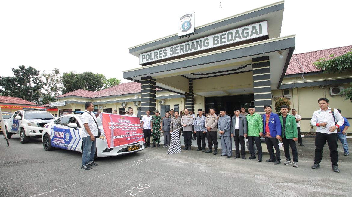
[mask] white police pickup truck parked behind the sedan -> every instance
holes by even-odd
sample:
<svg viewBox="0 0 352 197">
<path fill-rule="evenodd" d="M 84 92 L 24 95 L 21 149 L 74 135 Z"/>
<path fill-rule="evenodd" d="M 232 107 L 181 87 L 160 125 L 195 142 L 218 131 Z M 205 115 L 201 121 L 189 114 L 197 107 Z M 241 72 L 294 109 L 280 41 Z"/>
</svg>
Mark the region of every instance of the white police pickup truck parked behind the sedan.
<svg viewBox="0 0 352 197">
<path fill-rule="evenodd" d="M 24 108 L 16 111 L 11 118 L 5 119 L 4 134 L 10 139 L 13 134 L 19 133 L 21 143 L 27 143 L 29 138 L 41 138 L 44 125 L 55 120 L 49 112 L 41 110 Z"/>
</svg>

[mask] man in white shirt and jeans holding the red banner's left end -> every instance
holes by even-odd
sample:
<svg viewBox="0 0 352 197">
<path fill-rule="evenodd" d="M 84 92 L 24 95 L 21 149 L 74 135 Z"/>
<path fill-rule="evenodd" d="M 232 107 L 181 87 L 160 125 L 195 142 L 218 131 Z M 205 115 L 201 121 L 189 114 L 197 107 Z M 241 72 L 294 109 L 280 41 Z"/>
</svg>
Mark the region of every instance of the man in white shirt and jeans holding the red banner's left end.
<svg viewBox="0 0 352 197">
<path fill-rule="evenodd" d="M 90 166 L 97 166 L 97 163 L 94 163 L 94 155 L 96 150 L 96 137 L 98 136 L 98 125 L 96 124 L 95 118 L 99 116 L 101 111 L 94 114 L 94 105 L 92 102 L 87 101 L 84 104 L 86 110 L 82 114 L 82 141 L 83 141 L 83 150 L 82 150 L 82 167 L 83 170 L 92 169 Z"/>
</svg>

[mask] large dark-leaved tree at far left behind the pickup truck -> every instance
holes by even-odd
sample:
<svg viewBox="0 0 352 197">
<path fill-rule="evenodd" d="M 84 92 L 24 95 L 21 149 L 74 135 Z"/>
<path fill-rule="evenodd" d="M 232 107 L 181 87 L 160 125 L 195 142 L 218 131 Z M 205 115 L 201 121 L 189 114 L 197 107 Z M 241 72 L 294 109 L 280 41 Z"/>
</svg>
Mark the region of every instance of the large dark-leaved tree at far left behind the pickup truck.
<svg viewBox="0 0 352 197">
<path fill-rule="evenodd" d="M 40 103 L 40 90 L 43 88 L 43 81 L 39 77 L 39 70 L 33 67 L 12 68 L 13 77 L 0 77 L 0 86 L 3 96 L 19 97 L 34 103 Z"/>
</svg>

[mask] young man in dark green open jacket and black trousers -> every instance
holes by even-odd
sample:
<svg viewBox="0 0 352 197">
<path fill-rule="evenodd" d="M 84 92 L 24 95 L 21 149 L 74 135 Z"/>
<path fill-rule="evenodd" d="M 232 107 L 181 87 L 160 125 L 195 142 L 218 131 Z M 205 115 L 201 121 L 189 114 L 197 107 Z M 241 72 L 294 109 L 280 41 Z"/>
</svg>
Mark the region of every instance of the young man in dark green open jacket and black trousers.
<svg viewBox="0 0 352 197">
<path fill-rule="evenodd" d="M 296 118 L 288 114 L 288 106 L 282 105 L 281 106 L 281 113 L 282 115 L 279 117 L 281 122 L 281 137 L 282 137 L 282 144 L 284 146 L 284 152 L 286 157 L 285 165 L 291 164 L 291 156 L 289 151 L 289 145 L 291 146 L 292 155 L 293 155 L 293 167 L 298 167 L 298 152 L 296 148 L 296 141 L 298 139 L 298 132 L 297 132 L 297 124 Z"/>
</svg>

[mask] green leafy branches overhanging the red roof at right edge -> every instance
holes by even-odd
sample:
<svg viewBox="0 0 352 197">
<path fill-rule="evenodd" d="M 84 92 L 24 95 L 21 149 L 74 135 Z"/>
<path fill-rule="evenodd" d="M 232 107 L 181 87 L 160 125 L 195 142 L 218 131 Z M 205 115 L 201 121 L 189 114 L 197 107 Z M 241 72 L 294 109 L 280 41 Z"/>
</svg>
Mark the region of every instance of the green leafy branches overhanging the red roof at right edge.
<svg viewBox="0 0 352 197">
<path fill-rule="evenodd" d="M 329 55 L 329 57 L 334 57 L 334 54 Z M 314 66 L 324 73 L 339 73 L 342 72 L 352 72 L 352 49 L 346 54 L 340 55 L 333 59 L 326 60 L 326 58 L 320 58 L 315 61 Z M 350 83 L 352 86 L 352 83 Z M 341 91 L 341 94 L 345 94 L 344 100 L 351 100 L 352 102 L 352 87 L 346 88 Z"/>
</svg>

